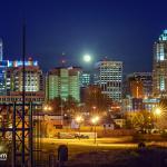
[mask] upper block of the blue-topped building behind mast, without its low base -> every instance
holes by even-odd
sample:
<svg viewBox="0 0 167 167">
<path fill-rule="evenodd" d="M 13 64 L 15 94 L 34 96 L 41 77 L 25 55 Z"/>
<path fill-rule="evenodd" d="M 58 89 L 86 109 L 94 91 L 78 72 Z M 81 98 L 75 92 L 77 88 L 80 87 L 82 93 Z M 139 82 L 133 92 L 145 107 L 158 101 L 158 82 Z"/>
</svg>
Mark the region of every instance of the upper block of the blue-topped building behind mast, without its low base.
<svg viewBox="0 0 167 167">
<path fill-rule="evenodd" d="M 13 61 L 12 66 L 6 70 L 8 95 L 10 95 L 11 91 L 22 91 L 22 61 Z M 39 68 L 38 62 L 31 58 L 26 61 L 24 77 L 24 88 L 27 92 L 43 91 L 42 70 Z"/>
</svg>

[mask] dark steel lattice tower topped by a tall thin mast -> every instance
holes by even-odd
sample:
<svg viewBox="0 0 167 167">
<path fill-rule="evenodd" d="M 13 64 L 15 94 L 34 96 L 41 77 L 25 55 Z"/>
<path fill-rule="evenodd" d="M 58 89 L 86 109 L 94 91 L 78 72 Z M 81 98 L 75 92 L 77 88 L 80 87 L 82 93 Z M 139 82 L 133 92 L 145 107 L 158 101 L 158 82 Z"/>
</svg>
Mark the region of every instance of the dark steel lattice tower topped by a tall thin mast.
<svg viewBox="0 0 167 167">
<path fill-rule="evenodd" d="M 22 27 L 22 102 L 13 104 L 12 167 L 33 167 L 32 102 L 26 101 L 26 23 Z"/>
</svg>

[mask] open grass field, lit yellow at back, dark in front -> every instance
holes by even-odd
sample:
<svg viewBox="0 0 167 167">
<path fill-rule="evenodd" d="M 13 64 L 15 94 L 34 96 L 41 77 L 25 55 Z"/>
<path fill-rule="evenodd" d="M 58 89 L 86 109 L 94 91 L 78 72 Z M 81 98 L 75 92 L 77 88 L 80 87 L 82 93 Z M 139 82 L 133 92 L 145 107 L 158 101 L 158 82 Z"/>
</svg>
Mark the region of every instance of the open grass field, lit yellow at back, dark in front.
<svg viewBox="0 0 167 167">
<path fill-rule="evenodd" d="M 166 167 L 167 150 L 164 147 L 153 147 L 148 144 L 146 149 L 138 149 L 137 144 L 116 144 L 116 140 L 99 139 L 95 145 L 92 140 L 78 139 L 42 139 L 42 154 L 40 159 L 47 161 L 49 154 L 57 159 L 57 149 L 67 145 L 69 160 L 65 167 Z"/>
</svg>

